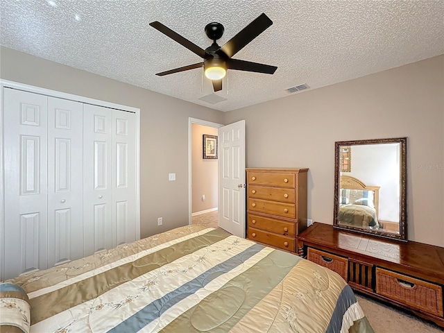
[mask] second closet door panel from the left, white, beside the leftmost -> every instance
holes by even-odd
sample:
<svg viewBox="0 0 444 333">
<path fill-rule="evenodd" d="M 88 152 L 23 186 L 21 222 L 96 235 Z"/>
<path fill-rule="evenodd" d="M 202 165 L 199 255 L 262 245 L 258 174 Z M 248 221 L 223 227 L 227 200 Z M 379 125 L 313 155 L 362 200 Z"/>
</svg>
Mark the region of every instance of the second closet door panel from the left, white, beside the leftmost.
<svg viewBox="0 0 444 333">
<path fill-rule="evenodd" d="M 48 98 L 48 266 L 83 257 L 83 104 Z"/>
</svg>

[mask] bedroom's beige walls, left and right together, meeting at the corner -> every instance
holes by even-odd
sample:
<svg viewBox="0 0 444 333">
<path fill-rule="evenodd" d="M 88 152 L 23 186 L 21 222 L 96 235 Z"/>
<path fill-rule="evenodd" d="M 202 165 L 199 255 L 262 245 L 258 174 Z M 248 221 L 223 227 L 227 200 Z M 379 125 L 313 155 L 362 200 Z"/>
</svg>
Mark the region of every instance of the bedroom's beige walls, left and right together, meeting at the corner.
<svg viewBox="0 0 444 333">
<path fill-rule="evenodd" d="M 142 237 L 188 222 L 194 117 L 245 119 L 247 167 L 308 167 L 309 218 L 330 224 L 334 142 L 409 137 L 409 239 L 444 246 L 444 56 L 225 113 L 4 47 L 0 60 L 6 80 L 141 109 Z M 177 180 L 169 182 L 173 172 Z"/>
</svg>

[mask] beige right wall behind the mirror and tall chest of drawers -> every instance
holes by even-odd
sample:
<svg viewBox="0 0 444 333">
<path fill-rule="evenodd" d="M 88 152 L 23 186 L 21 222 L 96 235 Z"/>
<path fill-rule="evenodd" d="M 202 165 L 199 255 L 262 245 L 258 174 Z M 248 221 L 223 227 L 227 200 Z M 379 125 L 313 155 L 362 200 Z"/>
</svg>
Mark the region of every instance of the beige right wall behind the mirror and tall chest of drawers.
<svg viewBox="0 0 444 333">
<path fill-rule="evenodd" d="M 444 56 L 225 114 L 240 119 L 246 165 L 308 167 L 308 216 L 329 224 L 334 142 L 409 137 L 408 236 L 444 246 Z"/>
</svg>

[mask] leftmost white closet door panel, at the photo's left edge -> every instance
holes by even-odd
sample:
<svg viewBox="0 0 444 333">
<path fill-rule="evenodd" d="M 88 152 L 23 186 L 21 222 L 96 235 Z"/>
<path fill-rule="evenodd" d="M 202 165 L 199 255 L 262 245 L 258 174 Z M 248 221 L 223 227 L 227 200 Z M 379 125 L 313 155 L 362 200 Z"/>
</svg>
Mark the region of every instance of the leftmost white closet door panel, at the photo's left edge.
<svg viewBox="0 0 444 333">
<path fill-rule="evenodd" d="M 5 260 L 8 279 L 47 266 L 47 99 L 4 89 Z"/>
</svg>

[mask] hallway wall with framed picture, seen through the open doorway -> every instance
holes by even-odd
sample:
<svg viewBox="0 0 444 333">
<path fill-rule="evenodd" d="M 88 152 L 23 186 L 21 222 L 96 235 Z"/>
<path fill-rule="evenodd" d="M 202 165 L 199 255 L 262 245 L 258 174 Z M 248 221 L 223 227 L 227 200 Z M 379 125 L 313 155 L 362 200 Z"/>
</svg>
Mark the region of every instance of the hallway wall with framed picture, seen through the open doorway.
<svg viewBox="0 0 444 333">
<path fill-rule="evenodd" d="M 217 207 L 217 160 L 203 159 L 202 136 L 217 135 L 217 128 L 191 124 L 191 212 Z M 205 194 L 205 201 L 202 195 Z"/>
</svg>

